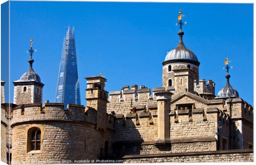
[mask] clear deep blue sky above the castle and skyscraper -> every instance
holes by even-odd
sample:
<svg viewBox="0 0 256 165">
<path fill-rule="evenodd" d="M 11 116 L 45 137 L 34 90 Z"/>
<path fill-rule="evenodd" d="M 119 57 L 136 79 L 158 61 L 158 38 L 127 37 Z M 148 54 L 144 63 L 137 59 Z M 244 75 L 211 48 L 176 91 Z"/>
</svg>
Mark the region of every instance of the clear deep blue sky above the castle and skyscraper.
<svg viewBox="0 0 256 165">
<path fill-rule="evenodd" d="M 175 26 L 185 14 L 183 41 L 201 63 L 199 79 L 225 86 L 224 60 L 233 69 L 230 83 L 253 105 L 253 5 L 134 2 L 18 2 L 10 5 L 10 81 L 28 69 L 33 37 L 33 68 L 45 84 L 43 102 L 54 102 L 66 26 L 75 26 L 81 103 L 87 76 L 102 71 L 107 91 L 124 85 L 161 87 L 162 62 L 178 44 Z M 10 85 L 11 102 L 13 85 Z"/>
</svg>

